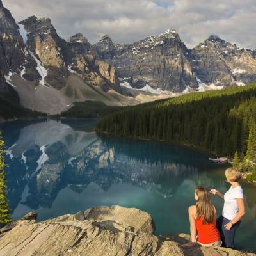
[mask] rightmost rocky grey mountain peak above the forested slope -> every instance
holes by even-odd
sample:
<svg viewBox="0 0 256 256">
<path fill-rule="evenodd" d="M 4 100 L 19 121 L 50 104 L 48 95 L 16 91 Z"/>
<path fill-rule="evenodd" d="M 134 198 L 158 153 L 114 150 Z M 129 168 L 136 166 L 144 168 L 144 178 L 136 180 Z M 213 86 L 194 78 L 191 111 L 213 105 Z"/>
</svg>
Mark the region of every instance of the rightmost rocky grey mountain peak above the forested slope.
<svg viewBox="0 0 256 256">
<path fill-rule="evenodd" d="M 202 83 L 241 86 L 256 80 L 255 51 L 239 49 L 212 35 L 191 52 L 195 62 L 193 70 Z"/>
</svg>

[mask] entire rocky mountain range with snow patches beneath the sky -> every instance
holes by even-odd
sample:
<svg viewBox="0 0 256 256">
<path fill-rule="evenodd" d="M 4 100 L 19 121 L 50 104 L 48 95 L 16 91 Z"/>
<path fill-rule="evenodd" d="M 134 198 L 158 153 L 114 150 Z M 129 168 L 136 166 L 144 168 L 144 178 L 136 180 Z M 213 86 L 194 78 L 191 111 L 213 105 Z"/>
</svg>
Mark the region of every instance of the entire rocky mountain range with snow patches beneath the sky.
<svg viewBox="0 0 256 256">
<path fill-rule="evenodd" d="M 0 95 L 55 114 L 74 102 L 134 105 L 256 81 L 256 51 L 211 35 L 188 49 L 175 29 L 133 44 L 58 35 L 49 18 L 19 24 L 0 0 Z M 7 93 L 7 94 L 6 94 Z M 8 94 L 9 93 L 9 94 Z"/>
</svg>

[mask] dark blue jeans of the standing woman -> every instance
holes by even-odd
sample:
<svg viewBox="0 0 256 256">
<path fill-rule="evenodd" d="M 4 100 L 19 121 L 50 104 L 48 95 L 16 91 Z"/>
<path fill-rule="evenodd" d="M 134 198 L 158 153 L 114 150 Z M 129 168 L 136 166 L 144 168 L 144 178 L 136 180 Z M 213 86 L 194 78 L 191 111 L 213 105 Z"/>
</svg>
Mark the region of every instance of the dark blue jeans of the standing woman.
<svg viewBox="0 0 256 256">
<path fill-rule="evenodd" d="M 239 227 L 241 221 L 238 221 L 236 224 L 232 225 L 232 228 L 230 230 L 227 230 L 224 226 L 229 222 L 230 220 L 226 219 L 223 216 L 220 216 L 216 221 L 216 227 L 220 232 L 222 246 L 227 248 L 234 248 L 236 229 Z"/>
</svg>

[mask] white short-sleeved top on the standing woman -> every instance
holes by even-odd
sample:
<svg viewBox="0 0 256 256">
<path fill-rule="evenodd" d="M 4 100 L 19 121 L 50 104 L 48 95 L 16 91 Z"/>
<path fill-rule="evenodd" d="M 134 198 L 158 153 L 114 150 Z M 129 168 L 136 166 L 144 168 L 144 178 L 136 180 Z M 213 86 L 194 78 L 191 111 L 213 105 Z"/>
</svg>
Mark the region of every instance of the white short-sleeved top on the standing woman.
<svg viewBox="0 0 256 256">
<path fill-rule="evenodd" d="M 236 198 L 244 198 L 244 193 L 241 186 L 237 186 L 236 188 L 232 188 L 231 186 L 224 195 L 224 207 L 222 216 L 228 220 L 233 220 L 239 210 Z"/>
</svg>

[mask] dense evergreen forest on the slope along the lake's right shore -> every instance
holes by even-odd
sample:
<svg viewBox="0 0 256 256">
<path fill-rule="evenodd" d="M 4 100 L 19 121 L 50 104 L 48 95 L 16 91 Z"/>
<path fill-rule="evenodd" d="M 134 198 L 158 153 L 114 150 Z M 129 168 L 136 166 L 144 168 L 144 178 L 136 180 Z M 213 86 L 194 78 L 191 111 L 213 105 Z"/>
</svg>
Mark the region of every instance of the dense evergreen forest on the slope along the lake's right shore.
<svg viewBox="0 0 256 256">
<path fill-rule="evenodd" d="M 255 124 L 256 83 L 252 83 L 127 107 L 102 117 L 97 130 L 116 136 L 188 143 L 220 156 L 234 156 L 236 150 L 246 156 L 248 145 L 256 145 Z M 250 150 L 253 152 L 253 148 Z M 256 160 L 255 154 L 250 156 L 255 158 L 252 161 Z"/>
</svg>

